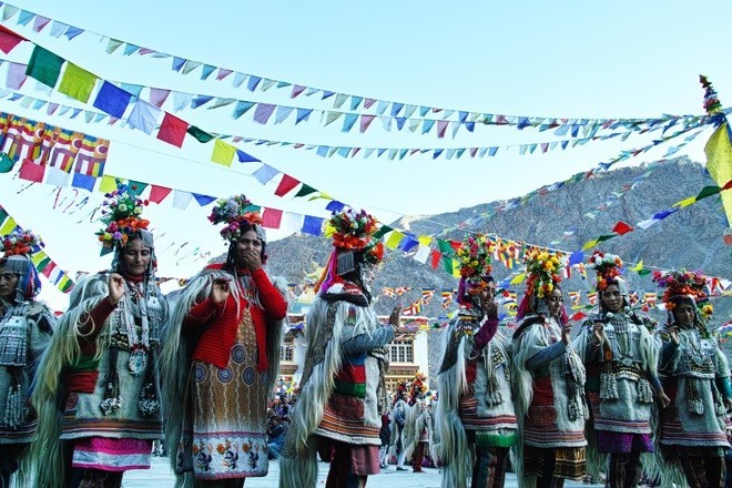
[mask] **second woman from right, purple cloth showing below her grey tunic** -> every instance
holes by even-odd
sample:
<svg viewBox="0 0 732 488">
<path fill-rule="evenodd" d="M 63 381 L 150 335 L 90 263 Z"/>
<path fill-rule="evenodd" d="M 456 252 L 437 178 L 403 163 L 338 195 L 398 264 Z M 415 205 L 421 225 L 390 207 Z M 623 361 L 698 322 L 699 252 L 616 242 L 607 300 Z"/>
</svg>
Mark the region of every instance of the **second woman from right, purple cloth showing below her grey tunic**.
<svg viewBox="0 0 732 488">
<path fill-rule="evenodd" d="M 610 455 L 608 482 L 629 488 L 639 480 L 641 454 L 653 453 L 653 396 L 663 406 L 669 398 L 657 373 L 658 344 L 649 333 L 648 319 L 630 311 L 621 266 L 616 255 L 592 254 L 588 267 L 598 273 L 600 313 L 589 317 L 576 345 L 588 370 L 587 397 L 597 449 Z"/>
</svg>

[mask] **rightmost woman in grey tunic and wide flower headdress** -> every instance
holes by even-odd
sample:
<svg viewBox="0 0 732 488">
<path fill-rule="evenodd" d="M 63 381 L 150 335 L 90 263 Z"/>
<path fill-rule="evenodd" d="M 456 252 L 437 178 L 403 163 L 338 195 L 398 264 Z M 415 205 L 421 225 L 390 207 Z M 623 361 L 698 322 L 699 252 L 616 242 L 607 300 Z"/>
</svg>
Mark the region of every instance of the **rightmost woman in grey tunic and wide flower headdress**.
<svg viewBox="0 0 732 488">
<path fill-rule="evenodd" d="M 671 405 L 661 410 L 660 446 L 664 460 L 661 486 L 675 481 L 675 467 L 691 487 L 723 487 L 724 449 L 730 447 L 726 408 L 732 407 L 730 367 L 706 328 L 711 305 L 705 303 L 706 279 L 701 272 L 657 272 L 665 288 L 668 323 L 659 373 Z"/>
</svg>

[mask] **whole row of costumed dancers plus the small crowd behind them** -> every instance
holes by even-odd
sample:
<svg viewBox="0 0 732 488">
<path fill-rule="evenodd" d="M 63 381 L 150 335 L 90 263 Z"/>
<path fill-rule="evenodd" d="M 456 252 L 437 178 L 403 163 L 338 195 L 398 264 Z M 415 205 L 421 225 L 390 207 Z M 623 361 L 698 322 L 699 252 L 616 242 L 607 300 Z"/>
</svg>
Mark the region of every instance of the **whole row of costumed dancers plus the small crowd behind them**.
<svg viewBox="0 0 732 488">
<path fill-rule="evenodd" d="M 441 470 L 443 486 L 566 479 L 634 487 L 723 487 L 730 368 L 706 325 L 700 272 L 659 273 L 668 321 L 631 309 L 618 256 L 596 252 L 599 307 L 572 327 L 561 258 L 527 252 L 516 327 L 499 331 L 494 244 L 457 250 L 456 317 L 441 332 L 437 394 L 423 375 L 389 392 L 388 344 L 369 284 L 384 248 L 365 212 L 335 213 L 333 251 L 307 316 L 297 401 L 273 397 L 288 308 L 266 235 L 244 195 L 218 201 L 228 253 L 185 288 L 161 293 L 144 202 L 123 183 L 98 233 L 108 271 L 80 281 L 59 317 L 35 299 L 38 237 L 2 238 L 0 488 L 121 487 L 163 441 L 180 487 L 242 487 L 279 460 L 282 488 L 360 488 L 389 469 Z"/>
</svg>

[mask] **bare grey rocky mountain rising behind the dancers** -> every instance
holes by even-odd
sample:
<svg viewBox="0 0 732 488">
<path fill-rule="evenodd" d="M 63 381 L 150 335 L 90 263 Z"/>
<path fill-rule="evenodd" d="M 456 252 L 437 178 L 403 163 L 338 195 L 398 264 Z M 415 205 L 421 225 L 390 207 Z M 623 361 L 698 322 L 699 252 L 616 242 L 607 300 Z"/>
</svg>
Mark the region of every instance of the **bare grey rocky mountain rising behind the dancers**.
<svg viewBox="0 0 732 488">
<path fill-rule="evenodd" d="M 618 221 L 636 227 L 638 222 L 669 210 L 673 203 L 697 195 L 702 187 L 713 184 L 701 164 L 679 157 L 663 163 L 600 172 L 590 179 L 567 183 L 510 210 L 497 211 L 501 205 L 507 206 L 507 202 L 488 202 L 439 215 L 405 216 L 389 225 L 415 235 L 441 233 L 440 238 L 461 240 L 469 232 L 490 233 L 572 252 L 592 238 L 610 234 Z M 456 227 L 466 221 L 475 225 L 467 228 L 461 226 L 461 230 Z M 618 254 L 627 263 L 643 260 L 649 268 L 702 268 L 709 275 L 732 279 L 732 253 L 729 246 L 725 248 L 722 240 L 725 227 L 721 200 L 713 196 L 682 209 L 647 230 L 636 228 L 629 234 L 602 242 L 598 248 Z M 445 232 L 449 228 L 451 231 Z M 325 237 L 293 235 L 270 243 L 268 252 L 272 256 L 267 264 L 271 274 L 286 276 L 291 283 L 303 283 L 304 276 L 312 274 L 316 266 L 325 264 L 331 243 Z M 590 254 L 591 251 L 586 252 L 586 258 Z M 499 281 L 510 274 L 501 263 L 496 262 L 494 267 L 494 274 Z M 658 289 L 650 275 L 639 276 L 627 271 L 626 276 L 630 289 L 638 291 L 640 296 L 644 292 Z M 588 292 L 593 284 L 592 275 L 584 279 L 575 273 L 565 281 L 563 289 Z M 441 266 L 433 270 L 429 264 L 421 264 L 401 251 L 387 250 L 385 264 L 377 272 L 373 285 L 379 314 L 388 314 L 396 303 L 395 298 L 378 294 L 380 289 L 400 286 L 411 288 L 400 298 L 404 305 L 418 299 L 423 288 L 436 288 L 438 292 L 424 308 L 423 315 L 445 317 L 447 311 L 440 305 L 439 291 L 456 288 L 457 279 L 444 272 Z M 522 289 L 522 285 L 519 285 L 519 298 Z M 722 297 L 712 303 L 715 308 L 712 326 L 732 318 L 732 299 Z M 651 311 L 651 315 L 659 321 L 665 319 L 660 309 Z M 435 332 L 428 337 L 431 379 L 436 374 L 434 369 L 439 366 L 439 329 L 430 332 Z"/>
</svg>

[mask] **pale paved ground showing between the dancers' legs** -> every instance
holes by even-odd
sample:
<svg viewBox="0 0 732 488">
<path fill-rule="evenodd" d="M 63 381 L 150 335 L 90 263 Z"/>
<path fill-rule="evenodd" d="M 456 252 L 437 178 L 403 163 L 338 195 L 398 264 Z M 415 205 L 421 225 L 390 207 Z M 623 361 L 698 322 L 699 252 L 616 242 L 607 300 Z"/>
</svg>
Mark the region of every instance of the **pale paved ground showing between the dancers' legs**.
<svg viewBox="0 0 732 488">
<path fill-rule="evenodd" d="M 328 465 L 321 462 L 318 467 L 318 486 L 325 486 L 325 476 Z M 279 465 L 270 461 L 270 474 L 264 478 L 251 478 L 246 480 L 245 488 L 272 488 L 277 487 Z M 174 477 L 171 474 L 167 458 L 153 458 L 153 467 L 150 470 L 129 471 L 124 476 L 123 488 L 172 488 Z M 440 474 L 437 469 L 425 468 L 425 472 L 396 471 L 395 466 L 389 466 L 380 475 L 368 478 L 368 488 L 439 488 Z M 572 487 L 599 487 L 600 485 L 582 485 L 579 482 L 566 482 L 566 488 Z M 506 488 L 517 488 L 516 475 L 509 474 L 506 479 Z"/>
</svg>

